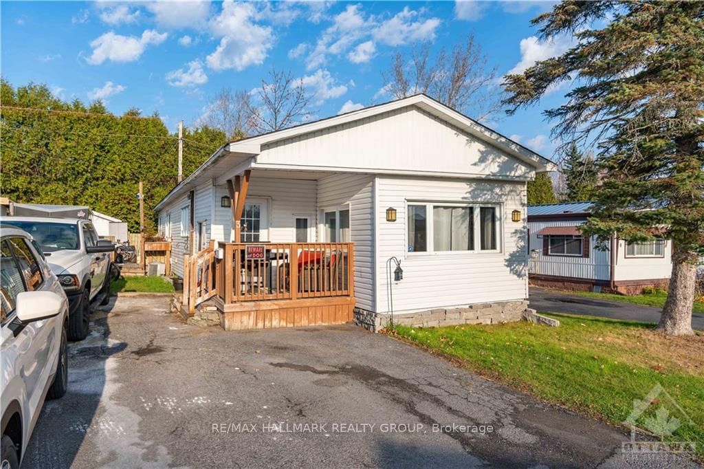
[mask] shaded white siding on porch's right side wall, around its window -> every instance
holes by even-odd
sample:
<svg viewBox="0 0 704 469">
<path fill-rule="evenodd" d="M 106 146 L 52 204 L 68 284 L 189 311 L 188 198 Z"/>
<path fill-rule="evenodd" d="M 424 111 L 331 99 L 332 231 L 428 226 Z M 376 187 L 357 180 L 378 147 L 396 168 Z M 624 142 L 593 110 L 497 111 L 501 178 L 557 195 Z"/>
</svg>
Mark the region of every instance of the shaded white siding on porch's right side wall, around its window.
<svg viewBox="0 0 704 469">
<path fill-rule="evenodd" d="M 350 208 L 350 241 L 354 243 L 355 298 L 374 311 L 374 177 L 332 175 L 318 182 L 318 208 Z"/>
</svg>

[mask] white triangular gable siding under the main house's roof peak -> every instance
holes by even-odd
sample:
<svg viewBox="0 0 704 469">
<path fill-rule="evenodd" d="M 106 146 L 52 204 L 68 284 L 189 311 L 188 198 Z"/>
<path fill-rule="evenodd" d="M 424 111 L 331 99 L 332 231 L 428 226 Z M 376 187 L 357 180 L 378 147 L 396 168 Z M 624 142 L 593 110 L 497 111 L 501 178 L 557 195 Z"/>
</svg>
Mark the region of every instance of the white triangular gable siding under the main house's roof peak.
<svg viewBox="0 0 704 469">
<path fill-rule="evenodd" d="M 305 157 L 302 157 L 305 156 Z M 417 107 L 264 146 L 257 163 L 529 177 L 532 168 Z"/>
</svg>

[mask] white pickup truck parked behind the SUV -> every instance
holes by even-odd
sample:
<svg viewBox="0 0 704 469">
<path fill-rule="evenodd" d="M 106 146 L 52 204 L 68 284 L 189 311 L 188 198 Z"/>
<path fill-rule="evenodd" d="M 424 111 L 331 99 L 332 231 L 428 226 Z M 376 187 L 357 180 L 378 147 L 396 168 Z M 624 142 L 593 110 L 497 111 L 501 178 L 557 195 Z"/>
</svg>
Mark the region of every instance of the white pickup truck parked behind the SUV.
<svg viewBox="0 0 704 469">
<path fill-rule="evenodd" d="M 115 245 L 98 239 L 90 220 L 11 216 L 3 217 L 2 223 L 32 235 L 68 296 L 68 339 L 84 339 L 90 304 L 107 304 L 110 299 L 110 253 Z"/>
</svg>

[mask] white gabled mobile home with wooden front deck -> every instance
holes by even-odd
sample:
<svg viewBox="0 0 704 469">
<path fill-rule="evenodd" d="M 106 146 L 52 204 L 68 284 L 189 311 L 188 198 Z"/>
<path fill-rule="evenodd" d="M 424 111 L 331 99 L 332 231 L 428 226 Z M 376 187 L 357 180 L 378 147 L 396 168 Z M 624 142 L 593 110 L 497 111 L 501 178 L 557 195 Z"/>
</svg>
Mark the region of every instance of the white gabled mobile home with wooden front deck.
<svg viewBox="0 0 704 469">
<path fill-rule="evenodd" d="M 526 182 L 552 167 L 419 94 L 226 144 L 156 211 L 227 329 L 491 323 L 527 306 Z"/>
</svg>

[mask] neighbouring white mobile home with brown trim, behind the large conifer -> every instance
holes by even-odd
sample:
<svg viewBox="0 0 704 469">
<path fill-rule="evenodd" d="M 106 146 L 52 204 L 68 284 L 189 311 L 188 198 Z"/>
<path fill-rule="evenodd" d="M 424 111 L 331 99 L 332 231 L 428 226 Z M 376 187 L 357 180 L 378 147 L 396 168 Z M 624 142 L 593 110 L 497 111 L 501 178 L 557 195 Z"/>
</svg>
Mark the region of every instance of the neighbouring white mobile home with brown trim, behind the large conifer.
<svg viewBox="0 0 704 469">
<path fill-rule="evenodd" d="M 528 207 L 529 281 L 539 287 L 583 292 L 639 294 L 644 287 L 667 287 L 672 243 L 655 239 L 627 243 L 614 236 L 597 249 L 583 237 L 591 202 Z"/>
</svg>

